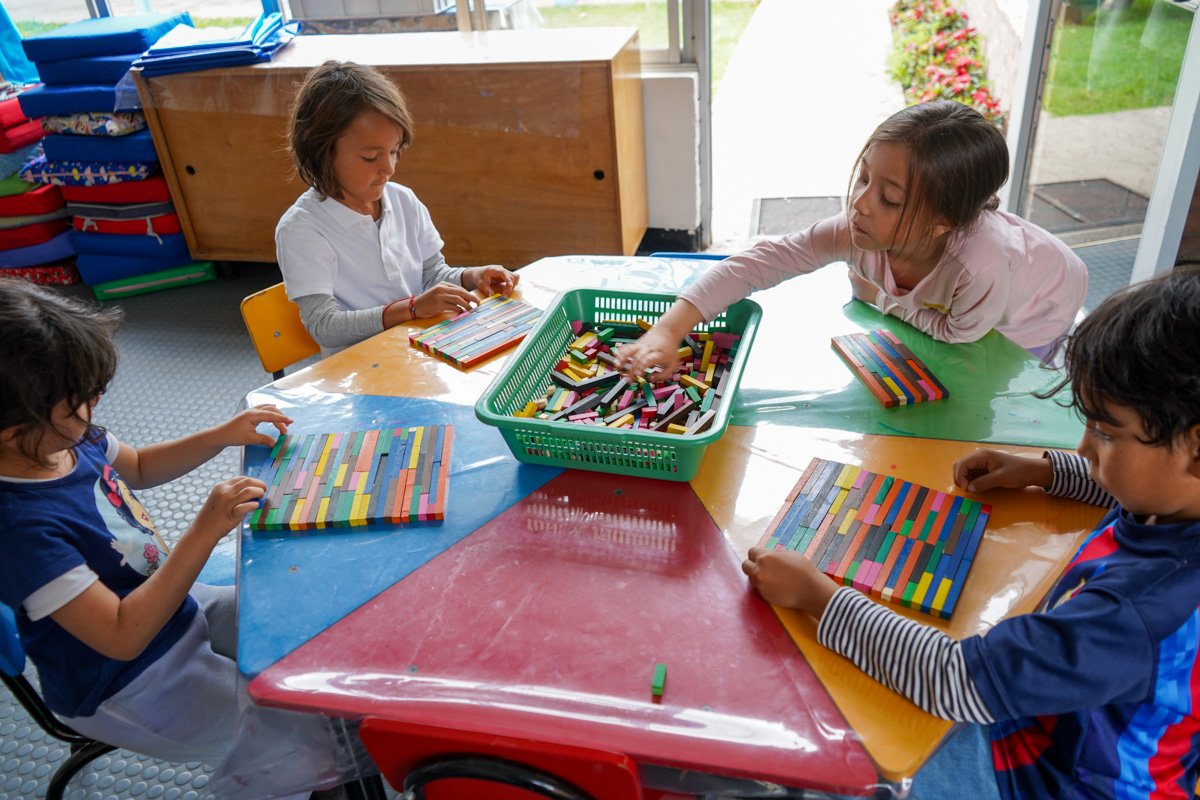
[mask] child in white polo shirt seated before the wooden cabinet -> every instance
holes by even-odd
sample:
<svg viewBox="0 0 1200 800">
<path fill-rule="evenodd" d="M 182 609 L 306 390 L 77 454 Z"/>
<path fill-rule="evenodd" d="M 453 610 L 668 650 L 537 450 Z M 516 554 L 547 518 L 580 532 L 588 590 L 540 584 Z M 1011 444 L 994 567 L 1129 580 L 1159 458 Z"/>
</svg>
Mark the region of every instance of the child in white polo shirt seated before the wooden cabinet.
<svg viewBox="0 0 1200 800">
<path fill-rule="evenodd" d="M 373 67 L 326 61 L 300 86 L 288 146 L 310 188 L 276 225 L 275 252 L 323 353 L 516 287 L 496 264 L 446 265 L 428 210 L 391 182 L 412 140 L 403 96 Z"/>
</svg>

